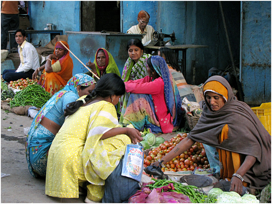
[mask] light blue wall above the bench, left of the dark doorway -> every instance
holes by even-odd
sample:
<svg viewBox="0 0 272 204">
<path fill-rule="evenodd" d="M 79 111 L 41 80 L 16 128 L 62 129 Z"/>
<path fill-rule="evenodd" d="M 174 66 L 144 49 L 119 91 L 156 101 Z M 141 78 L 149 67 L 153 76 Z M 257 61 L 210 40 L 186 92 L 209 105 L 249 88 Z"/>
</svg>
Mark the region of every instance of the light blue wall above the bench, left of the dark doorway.
<svg viewBox="0 0 272 204">
<path fill-rule="evenodd" d="M 30 24 L 35 30 L 44 30 L 47 23 L 53 23 L 54 30 L 80 31 L 80 1 L 28 1 Z M 50 34 L 32 34 L 32 42 L 42 46 L 50 41 Z"/>
</svg>

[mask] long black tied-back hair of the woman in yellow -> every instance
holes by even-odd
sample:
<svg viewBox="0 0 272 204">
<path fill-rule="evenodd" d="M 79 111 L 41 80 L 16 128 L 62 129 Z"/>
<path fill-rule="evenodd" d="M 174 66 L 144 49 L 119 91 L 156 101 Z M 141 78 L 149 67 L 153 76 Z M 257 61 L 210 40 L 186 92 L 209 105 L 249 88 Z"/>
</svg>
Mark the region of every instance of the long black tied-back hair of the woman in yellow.
<svg viewBox="0 0 272 204">
<path fill-rule="evenodd" d="M 115 73 L 104 74 L 100 80 L 98 80 L 92 93 L 86 96 L 84 99 L 86 102 L 94 97 L 107 98 L 111 95 L 121 96 L 125 94 L 126 88 L 123 80 Z M 83 105 L 82 100 L 71 102 L 67 104 L 64 116 L 74 114 L 80 106 Z"/>
</svg>

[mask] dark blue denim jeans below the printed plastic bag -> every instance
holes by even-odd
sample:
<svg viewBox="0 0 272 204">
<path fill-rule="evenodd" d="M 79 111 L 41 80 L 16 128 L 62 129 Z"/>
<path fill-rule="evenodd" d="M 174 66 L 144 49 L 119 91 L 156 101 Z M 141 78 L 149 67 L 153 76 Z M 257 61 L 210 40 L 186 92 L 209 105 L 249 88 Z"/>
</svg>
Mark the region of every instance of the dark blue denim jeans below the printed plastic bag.
<svg viewBox="0 0 272 204">
<path fill-rule="evenodd" d="M 140 190 L 139 182 L 134 179 L 121 176 L 123 158 L 105 180 L 105 193 L 102 203 L 127 203 L 129 197 Z"/>
</svg>

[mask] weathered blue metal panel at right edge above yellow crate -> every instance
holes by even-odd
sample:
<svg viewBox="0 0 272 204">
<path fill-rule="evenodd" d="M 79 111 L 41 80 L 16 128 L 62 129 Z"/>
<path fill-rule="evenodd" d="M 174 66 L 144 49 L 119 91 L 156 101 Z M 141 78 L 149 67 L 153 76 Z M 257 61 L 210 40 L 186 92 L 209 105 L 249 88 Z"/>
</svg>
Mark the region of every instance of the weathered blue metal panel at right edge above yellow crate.
<svg viewBox="0 0 272 204">
<path fill-rule="evenodd" d="M 242 1 L 241 82 L 245 102 L 271 102 L 271 1 Z"/>
</svg>

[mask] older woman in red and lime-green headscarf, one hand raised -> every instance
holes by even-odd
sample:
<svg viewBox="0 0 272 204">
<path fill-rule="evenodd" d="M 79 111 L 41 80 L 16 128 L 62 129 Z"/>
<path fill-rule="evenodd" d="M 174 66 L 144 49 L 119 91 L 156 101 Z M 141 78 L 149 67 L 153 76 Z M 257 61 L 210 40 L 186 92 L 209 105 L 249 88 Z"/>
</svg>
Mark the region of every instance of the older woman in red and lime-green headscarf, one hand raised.
<svg viewBox="0 0 272 204">
<path fill-rule="evenodd" d="M 107 73 L 115 73 L 120 76 L 119 69 L 113 59 L 113 56 L 104 48 L 99 48 L 95 53 L 94 63 L 89 60 L 89 62 L 86 63 L 86 66 L 91 68 L 92 72 L 97 74 L 99 77 Z M 94 80 L 98 81 L 95 76 L 92 76 L 90 71 L 84 74 L 88 74 L 89 76 L 93 77 Z"/>
</svg>

